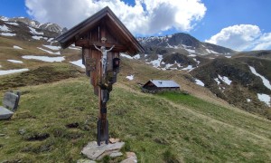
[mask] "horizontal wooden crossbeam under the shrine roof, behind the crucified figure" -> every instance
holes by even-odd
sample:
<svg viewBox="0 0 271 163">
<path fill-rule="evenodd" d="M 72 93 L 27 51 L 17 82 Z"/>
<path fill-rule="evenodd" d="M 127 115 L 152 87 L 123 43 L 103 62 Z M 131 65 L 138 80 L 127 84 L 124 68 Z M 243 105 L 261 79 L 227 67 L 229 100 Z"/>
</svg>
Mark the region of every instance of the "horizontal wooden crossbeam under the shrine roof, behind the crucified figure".
<svg viewBox="0 0 271 163">
<path fill-rule="evenodd" d="M 75 42 L 76 46 L 95 49 L 93 44 L 96 44 L 96 46 L 105 46 L 107 49 L 111 48 L 114 45 L 114 43 L 99 43 L 99 42 L 92 42 L 90 40 L 85 40 L 85 39 Z M 128 47 L 121 44 L 115 44 L 115 47 L 113 48 L 112 51 L 125 53 L 127 50 L 128 50 Z"/>
</svg>

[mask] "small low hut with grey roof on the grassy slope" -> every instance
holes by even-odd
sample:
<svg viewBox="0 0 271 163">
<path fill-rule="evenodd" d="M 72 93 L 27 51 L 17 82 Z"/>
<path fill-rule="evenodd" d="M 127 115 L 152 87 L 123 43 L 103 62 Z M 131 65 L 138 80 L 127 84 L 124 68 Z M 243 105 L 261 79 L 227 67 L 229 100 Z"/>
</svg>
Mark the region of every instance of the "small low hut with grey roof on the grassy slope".
<svg viewBox="0 0 271 163">
<path fill-rule="evenodd" d="M 148 91 L 180 91 L 178 83 L 162 80 L 150 80 L 142 88 Z"/>
</svg>

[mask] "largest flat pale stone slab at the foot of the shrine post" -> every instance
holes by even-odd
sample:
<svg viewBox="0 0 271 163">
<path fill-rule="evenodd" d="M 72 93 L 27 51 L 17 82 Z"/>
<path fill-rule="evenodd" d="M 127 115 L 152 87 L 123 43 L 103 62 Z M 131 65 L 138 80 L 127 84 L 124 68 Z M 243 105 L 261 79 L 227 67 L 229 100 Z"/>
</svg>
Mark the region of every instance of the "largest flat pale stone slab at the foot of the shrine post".
<svg viewBox="0 0 271 163">
<path fill-rule="evenodd" d="M 96 160 L 98 158 L 100 159 L 100 156 L 104 153 L 110 155 L 111 153 L 116 152 L 116 150 L 121 149 L 124 145 L 125 142 L 117 142 L 115 144 L 101 144 L 98 146 L 96 141 L 91 141 L 84 149 L 82 149 L 81 153 L 92 160 Z"/>
</svg>

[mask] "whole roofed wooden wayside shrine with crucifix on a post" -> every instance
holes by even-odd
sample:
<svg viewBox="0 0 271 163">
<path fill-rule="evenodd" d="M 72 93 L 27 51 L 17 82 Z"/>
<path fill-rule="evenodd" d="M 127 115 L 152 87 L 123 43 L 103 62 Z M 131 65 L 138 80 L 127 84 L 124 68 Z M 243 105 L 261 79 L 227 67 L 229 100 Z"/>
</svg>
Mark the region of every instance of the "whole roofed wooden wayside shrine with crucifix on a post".
<svg viewBox="0 0 271 163">
<path fill-rule="evenodd" d="M 98 145 L 108 143 L 107 101 L 112 85 L 117 82 L 119 72 L 119 53 L 144 53 L 144 48 L 126 29 L 117 16 L 105 7 L 85 21 L 72 27 L 56 38 L 62 48 L 71 43 L 82 47 L 82 62 L 86 75 L 98 95 Z"/>
</svg>

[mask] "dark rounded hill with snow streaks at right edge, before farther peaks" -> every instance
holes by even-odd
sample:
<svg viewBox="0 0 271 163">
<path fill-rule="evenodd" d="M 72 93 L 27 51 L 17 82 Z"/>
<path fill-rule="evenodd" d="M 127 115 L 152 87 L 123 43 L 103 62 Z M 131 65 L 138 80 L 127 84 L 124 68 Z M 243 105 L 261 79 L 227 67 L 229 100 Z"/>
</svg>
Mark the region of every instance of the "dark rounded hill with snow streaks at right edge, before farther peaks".
<svg viewBox="0 0 271 163">
<path fill-rule="evenodd" d="M 205 87 L 221 99 L 271 119 L 270 106 L 257 101 L 259 93 L 271 94 L 262 79 L 251 72 L 251 68 L 260 70 L 266 79 L 270 78 L 268 65 L 271 61 L 257 58 L 227 59 L 218 58 L 192 71 L 192 75 L 205 83 Z M 250 68 L 249 68 L 250 66 Z M 252 67 L 253 66 L 253 67 Z"/>
</svg>

